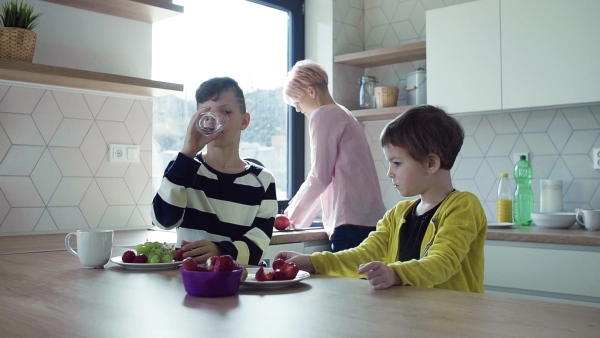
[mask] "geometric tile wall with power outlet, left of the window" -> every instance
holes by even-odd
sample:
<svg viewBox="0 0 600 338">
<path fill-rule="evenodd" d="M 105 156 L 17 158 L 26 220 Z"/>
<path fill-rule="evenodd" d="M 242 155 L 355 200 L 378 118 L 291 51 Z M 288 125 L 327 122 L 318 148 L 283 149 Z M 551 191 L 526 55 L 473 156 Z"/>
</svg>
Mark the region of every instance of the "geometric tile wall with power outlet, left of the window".
<svg viewBox="0 0 600 338">
<path fill-rule="evenodd" d="M 151 116 L 145 98 L 0 85 L 0 235 L 149 227 Z M 108 162 L 110 143 L 142 161 Z"/>
</svg>

